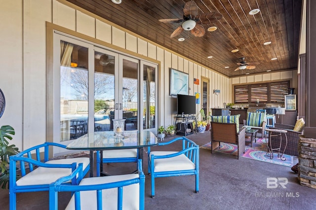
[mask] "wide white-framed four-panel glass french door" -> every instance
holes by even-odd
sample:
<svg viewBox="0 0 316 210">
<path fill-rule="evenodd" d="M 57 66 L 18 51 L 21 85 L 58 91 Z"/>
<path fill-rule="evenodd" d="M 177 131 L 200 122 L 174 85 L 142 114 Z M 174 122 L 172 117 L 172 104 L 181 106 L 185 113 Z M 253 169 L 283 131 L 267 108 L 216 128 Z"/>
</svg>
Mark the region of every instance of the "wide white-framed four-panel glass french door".
<svg viewBox="0 0 316 210">
<path fill-rule="evenodd" d="M 157 68 L 55 33 L 54 142 L 68 145 L 88 132 L 111 131 L 114 119 L 125 119 L 125 130 L 156 130 Z"/>
</svg>

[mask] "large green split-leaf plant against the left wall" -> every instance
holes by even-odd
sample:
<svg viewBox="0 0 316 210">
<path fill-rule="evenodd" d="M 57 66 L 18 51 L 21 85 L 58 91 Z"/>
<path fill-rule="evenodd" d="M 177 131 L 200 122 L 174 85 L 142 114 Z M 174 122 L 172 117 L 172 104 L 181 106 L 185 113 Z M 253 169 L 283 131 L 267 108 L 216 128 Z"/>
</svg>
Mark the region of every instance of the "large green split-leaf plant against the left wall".
<svg viewBox="0 0 316 210">
<path fill-rule="evenodd" d="M 15 155 L 19 149 L 15 145 L 9 145 L 8 140 L 12 140 L 15 134 L 13 127 L 3 125 L 0 128 L 0 186 L 2 189 L 9 188 L 9 156 Z M 19 178 L 19 177 L 18 177 Z"/>
</svg>

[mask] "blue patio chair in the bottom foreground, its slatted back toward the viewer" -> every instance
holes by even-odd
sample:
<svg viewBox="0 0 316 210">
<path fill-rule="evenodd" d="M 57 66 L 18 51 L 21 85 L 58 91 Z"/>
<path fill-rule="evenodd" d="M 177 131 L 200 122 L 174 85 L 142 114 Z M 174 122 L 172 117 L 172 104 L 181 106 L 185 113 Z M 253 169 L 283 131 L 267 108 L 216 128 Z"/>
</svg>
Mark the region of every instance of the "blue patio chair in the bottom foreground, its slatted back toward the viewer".
<svg viewBox="0 0 316 210">
<path fill-rule="evenodd" d="M 138 160 L 138 174 L 92 177 L 79 185 L 63 185 L 76 177 L 79 169 L 49 186 L 49 209 L 58 210 L 58 192 L 74 192 L 66 210 L 144 210 L 145 175 Z"/>
</svg>

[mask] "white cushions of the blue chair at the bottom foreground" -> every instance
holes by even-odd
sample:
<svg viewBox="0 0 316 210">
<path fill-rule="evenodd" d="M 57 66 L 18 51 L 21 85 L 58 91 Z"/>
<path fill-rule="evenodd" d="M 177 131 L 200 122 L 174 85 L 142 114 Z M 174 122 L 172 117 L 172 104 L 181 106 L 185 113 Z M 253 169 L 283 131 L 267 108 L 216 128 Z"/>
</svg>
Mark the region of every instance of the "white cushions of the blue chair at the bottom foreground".
<svg viewBox="0 0 316 210">
<path fill-rule="evenodd" d="M 131 180 L 139 178 L 138 174 L 127 174 L 107 177 L 84 178 L 79 185 L 92 185 L 110 183 L 121 180 Z M 97 196 L 96 190 L 80 191 L 81 210 L 96 210 Z M 102 190 L 102 206 L 104 210 L 116 210 L 118 206 L 118 188 Z M 123 187 L 123 210 L 139 209 L 139 183 Z M 75 195 L 72 196 L 66 210 L 75 210 Z"/>
</svg>

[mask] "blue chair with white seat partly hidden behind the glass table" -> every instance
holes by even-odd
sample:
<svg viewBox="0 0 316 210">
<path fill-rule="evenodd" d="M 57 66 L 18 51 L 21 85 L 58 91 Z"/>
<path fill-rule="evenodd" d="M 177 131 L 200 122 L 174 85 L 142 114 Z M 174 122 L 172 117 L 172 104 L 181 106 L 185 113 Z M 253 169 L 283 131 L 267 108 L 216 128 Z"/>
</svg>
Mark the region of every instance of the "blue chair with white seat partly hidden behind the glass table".
<svg viewBox="0 0 316 210">
<path fill-rule="evenodd" d="M 102 158 L 101 158 L 102 152 Z M 97 151 L 97 176 L 103 172 L 103 163 L 123 163 L 138 161 L 137 149 Z"/>
</svg>

